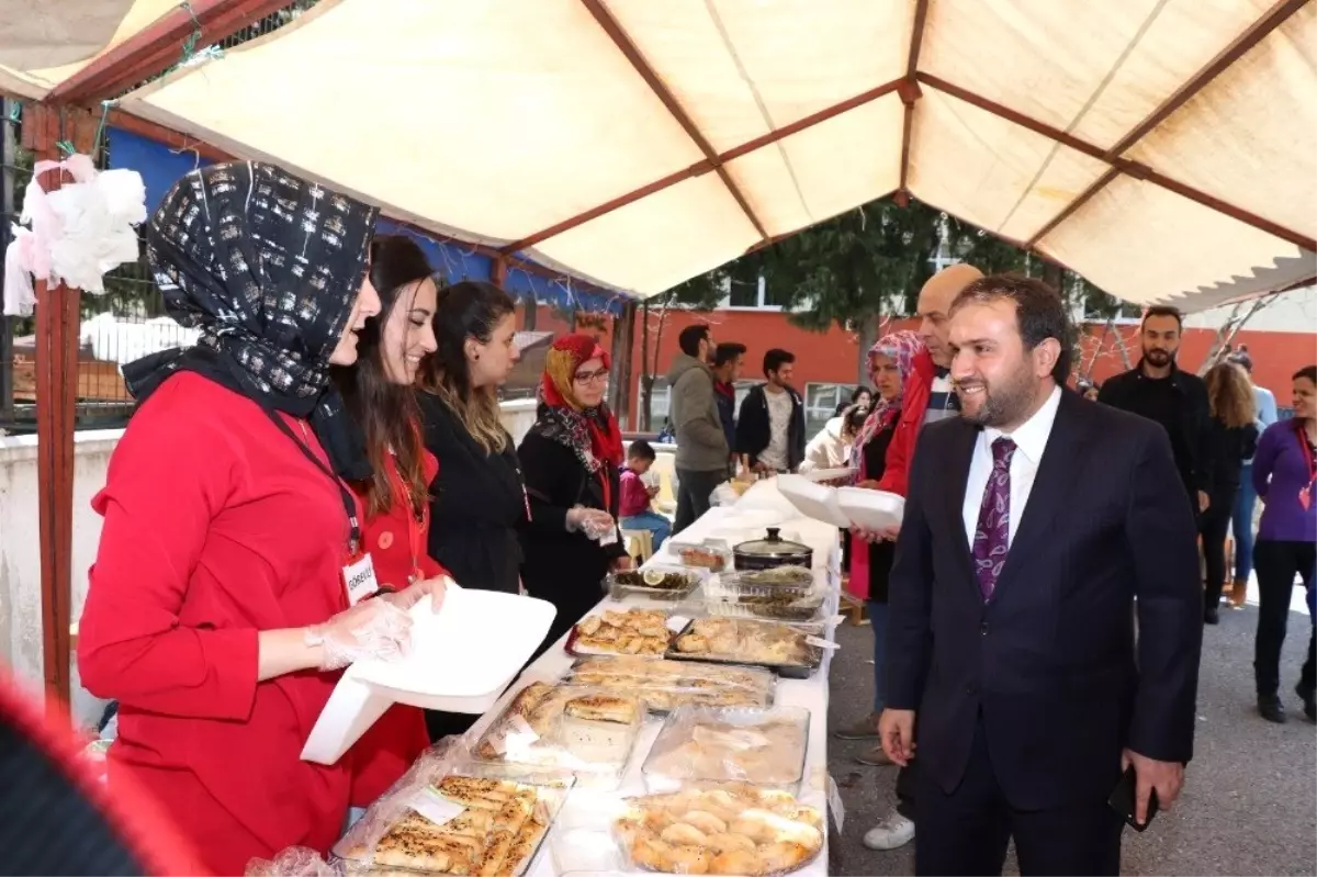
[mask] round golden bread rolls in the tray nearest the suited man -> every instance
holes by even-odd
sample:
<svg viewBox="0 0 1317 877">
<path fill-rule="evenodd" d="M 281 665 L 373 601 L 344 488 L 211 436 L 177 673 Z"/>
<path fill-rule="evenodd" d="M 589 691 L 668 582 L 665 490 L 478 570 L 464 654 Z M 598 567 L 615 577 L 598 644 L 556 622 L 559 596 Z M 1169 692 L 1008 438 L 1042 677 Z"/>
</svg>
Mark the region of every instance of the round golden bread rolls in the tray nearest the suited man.
<svg viewBox="0 0 1317 877">
<path fill-rule="evenodd" d="M 628 798 L 614 830 L 633 865 L 669 874 L 785 874 L 823 848 L 822 812 L 745 784 Z"/>
</svg>

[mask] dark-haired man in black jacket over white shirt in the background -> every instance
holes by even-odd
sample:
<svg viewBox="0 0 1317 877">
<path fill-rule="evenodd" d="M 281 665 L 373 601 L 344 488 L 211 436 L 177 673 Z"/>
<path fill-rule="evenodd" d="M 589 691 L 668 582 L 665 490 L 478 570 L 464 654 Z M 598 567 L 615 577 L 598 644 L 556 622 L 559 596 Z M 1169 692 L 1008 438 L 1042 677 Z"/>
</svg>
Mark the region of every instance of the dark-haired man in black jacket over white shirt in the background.
<svg viewBox="0 0 1317 877">
<path fill-rule="evenodd" d="M 761 473 L 795 471 L 805 460 L 805 403 L 792 388 L 795 354 L 773 348 L 764 354 L 766 381 L 751 388 L 736 419 L 741 465 Z"/>
</svg>

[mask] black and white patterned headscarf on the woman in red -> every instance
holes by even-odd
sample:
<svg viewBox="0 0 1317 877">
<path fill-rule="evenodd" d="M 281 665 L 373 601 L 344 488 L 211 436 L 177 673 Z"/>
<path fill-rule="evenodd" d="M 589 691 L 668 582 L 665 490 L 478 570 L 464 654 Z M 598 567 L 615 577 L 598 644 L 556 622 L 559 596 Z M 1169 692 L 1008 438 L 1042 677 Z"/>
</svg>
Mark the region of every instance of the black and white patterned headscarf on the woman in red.
<svg viewBox="0 0 1317 877">
<path fill-rule="evenodd" d="M 274 165 L 183 176 L 146 228 L 146 257 L 170 315 L 200 338 L 124 366 L 128 390 L 141 403 L 175 371 L 200 373 L 267 412 L 308 417 L 335 471 L 369 478 L 329 356 L 366 277 L 377 213 Z"/>
</svg>

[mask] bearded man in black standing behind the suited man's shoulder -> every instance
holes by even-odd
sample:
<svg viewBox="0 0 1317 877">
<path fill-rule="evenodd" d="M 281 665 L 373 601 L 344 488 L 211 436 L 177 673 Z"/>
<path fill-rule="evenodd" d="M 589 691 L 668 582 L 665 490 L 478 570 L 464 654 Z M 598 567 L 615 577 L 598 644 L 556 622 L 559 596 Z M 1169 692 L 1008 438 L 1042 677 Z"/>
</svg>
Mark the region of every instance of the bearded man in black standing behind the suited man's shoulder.
<svg viewBox="0 0 1317 877">
<path fill-rule="evenodd" d="M 1148 308 L 1139 332 L 1143 358 L 1104 383 L 1097 400 L 1162 424 L 1197 515 L 1206 511 L 1212 495 L 1212 410 L 1202 378 L 1176 366 L 1183 329 L 1177 309 Z"/>
</svg>

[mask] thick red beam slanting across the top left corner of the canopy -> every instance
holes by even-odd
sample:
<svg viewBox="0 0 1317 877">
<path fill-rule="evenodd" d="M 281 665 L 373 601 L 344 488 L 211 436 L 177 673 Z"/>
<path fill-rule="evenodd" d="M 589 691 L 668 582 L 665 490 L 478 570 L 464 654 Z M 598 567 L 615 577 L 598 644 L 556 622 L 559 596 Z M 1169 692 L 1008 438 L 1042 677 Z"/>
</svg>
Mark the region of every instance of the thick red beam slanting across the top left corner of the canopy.
<svg viewBox="0 0 1317 877">
<path fill-rule="evenodd" d="M 198 46 L 219 42 L 288 5 L 288 0 L 192 0 L 95 58 L 46 95 L 49 104 L 90 104 L 117 97 L 178 63 L 183 43 L 200 25 Z"/>
</svg>

